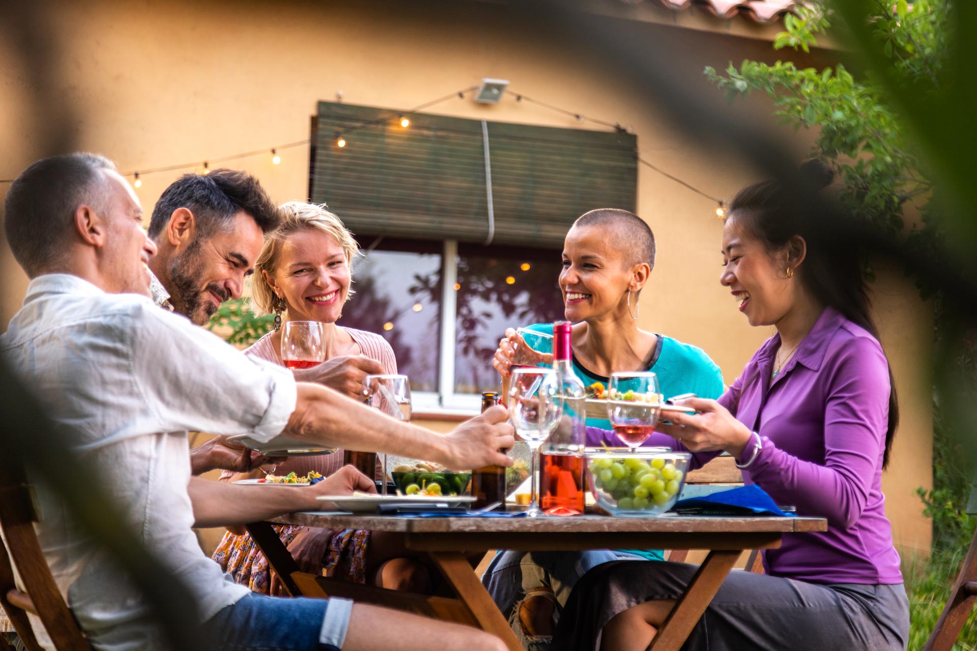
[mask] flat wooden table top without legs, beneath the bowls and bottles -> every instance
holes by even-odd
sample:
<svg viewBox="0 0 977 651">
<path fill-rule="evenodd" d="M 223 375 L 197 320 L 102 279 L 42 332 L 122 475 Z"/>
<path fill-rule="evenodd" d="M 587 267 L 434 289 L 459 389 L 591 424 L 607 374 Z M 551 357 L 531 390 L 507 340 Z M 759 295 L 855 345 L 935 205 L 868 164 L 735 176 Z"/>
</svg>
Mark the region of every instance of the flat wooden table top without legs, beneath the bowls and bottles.
<svg viewBox="0 0 977 651">
<path fill-rule="evenodd" d="M 665 515 L 660 517 L 402 517 L 397 515 L 297 512 L 276 517 L 276 524 L 369 529 L 409 534 L 445 533 L 799 533 L 827 531 L 823 517 L 720 517 Z"/>
</svg>

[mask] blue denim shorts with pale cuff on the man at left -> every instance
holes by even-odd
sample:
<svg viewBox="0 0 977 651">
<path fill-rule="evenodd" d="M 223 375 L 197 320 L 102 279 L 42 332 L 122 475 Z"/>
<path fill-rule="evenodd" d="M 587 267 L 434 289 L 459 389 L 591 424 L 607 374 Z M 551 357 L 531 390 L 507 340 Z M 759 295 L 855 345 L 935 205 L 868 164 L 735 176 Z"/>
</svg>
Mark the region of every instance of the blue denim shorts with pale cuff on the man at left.
<svg viewBox="0 0 977 651">
<path fill-rule="evenodd" d="M 350 624 L 348 599 L 248 594 L 201 627 L 207 651 L 339 651 Z"/>
</svg>

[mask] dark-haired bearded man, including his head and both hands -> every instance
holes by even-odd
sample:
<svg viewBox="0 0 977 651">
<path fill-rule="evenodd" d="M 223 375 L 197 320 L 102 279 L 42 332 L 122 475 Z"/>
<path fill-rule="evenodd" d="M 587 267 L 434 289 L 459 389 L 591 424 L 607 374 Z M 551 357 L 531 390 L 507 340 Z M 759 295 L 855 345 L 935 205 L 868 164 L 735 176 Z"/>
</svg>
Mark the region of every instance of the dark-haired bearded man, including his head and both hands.
<svg viewBox="0 0 977 651">
<path fill-rule="evenodd" d="M 157 249 L 149 260 L 153 302 L 206 325 L 222 303 L 241 297 L 265 233 L 280 221 L 271 197 L 247 172 L 219 169 L 180 177 L 156 201 L 149 222 L 149 239 Z M 293 371 L 297 381 L 360 401 L 363 379 L 371 373 L 383 373 L 383 367 L 363 355 L 337 355 L 316 368 Z M 217 468 L 246 472 L 267 461 L 226 436 L 191 450 L 193 474 Z"/>
</svg>

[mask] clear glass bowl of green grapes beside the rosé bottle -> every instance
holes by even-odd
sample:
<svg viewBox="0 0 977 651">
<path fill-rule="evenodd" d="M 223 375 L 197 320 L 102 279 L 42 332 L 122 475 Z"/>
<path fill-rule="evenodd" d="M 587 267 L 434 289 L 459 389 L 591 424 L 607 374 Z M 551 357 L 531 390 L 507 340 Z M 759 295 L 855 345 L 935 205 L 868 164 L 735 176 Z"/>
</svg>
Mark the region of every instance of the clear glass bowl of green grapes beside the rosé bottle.
<svg viewBox="0 0 977 651">
<path fill-rule="evenodd" d="M 587 481 L 598 506 L 622 517 L 655 517 L 671 509 L 692 455 L 658 449 L 588 451 Z"/>
</svg>

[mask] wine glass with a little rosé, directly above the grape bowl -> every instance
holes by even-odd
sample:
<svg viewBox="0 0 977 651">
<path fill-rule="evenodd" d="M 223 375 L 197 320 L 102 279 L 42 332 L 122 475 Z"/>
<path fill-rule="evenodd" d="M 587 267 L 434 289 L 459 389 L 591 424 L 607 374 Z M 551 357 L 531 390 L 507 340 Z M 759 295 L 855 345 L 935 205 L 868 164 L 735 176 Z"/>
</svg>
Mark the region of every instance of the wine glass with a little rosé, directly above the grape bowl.
<svg viewBox="0 0 977 651">
<path fill-rule="evenodd" d="M 650 371 L 614 373 L 608 388 L 608 420 L 627 447 L 636 449 L 655 432 L 661 396 Z"/>
</svg>

